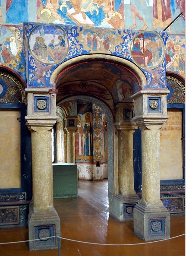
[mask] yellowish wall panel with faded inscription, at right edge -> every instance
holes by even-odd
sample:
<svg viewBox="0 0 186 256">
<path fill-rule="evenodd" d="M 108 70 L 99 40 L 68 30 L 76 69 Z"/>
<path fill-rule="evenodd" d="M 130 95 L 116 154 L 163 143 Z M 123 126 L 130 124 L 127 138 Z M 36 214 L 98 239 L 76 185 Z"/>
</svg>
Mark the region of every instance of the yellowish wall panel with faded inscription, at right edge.
<svg viewBox="0 0 186 256">
<path fill-rule="evenodd" d="M 183 179 L 182 111 L 167 109 L 167 114 L 160 130 L 161 180 Z"/>
</svg>

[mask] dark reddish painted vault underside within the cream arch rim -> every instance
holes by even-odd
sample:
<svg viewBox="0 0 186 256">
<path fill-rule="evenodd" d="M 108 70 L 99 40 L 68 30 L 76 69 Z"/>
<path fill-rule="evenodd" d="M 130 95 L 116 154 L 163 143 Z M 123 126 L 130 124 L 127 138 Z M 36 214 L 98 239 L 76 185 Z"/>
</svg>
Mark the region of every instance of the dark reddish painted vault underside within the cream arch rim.
<svg viewBox="0 0 186 256">
<path fill-rule="evenodd" d="M 124 66 L 104 61 L 79 63 L 57 77 L 57 101 L 73 95 L 88 95 L 113 107 L 119 101 L 132 101 L 130 95 L 139 90 L 136 77 Z"/>
</svg>

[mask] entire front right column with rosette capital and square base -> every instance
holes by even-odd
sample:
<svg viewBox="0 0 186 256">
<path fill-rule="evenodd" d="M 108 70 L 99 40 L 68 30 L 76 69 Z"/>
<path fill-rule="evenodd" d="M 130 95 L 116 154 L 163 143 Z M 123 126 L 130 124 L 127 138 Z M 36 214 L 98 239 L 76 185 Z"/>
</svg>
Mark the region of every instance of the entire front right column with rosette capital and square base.
<svg viewBox="0 0 186 256">
<path fill-rule="evenodd" d="M 160 199 L 160 128 L 168 90 L 143 90 L 134 98 L 133 120 L 142 130 L 142 199 L 134 208 L 134 233 L 143 240 L 170 237 L 170 213 Z"/>
</svg>

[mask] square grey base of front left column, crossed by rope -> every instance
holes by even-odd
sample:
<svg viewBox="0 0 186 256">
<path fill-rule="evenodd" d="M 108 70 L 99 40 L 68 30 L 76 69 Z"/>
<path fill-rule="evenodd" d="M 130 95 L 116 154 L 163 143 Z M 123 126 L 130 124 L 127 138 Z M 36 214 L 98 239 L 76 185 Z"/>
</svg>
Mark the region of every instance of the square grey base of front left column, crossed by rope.
<svg viewBox="0 0 186 256">
<path fill-rule="evenodd" d="M 48 250 L 58 248 L 56 234 L 60 235 L 60 218 L 53 212 L 34 213 L 28 215 L 29 250 Z M 54 236 L 54 237 L 53 237 Z M 51 238 L 47 238 L 51 237 Z"/>
</svg>

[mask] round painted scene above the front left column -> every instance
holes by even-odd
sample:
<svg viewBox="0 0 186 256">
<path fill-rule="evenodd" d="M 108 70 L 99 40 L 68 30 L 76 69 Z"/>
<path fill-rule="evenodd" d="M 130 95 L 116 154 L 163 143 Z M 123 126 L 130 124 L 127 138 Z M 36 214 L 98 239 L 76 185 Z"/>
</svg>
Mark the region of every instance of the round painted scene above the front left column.
<svg viewBox="0 0 186 256">
<path fill-rule="evenodd" d="M 43 64 L 57 64 L 65 59 L 69 41 L 65 31 L 58 25 L 37 25 L 28 37 L 32 57 Z"/>
</svg>

